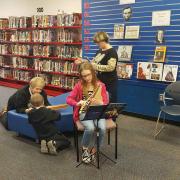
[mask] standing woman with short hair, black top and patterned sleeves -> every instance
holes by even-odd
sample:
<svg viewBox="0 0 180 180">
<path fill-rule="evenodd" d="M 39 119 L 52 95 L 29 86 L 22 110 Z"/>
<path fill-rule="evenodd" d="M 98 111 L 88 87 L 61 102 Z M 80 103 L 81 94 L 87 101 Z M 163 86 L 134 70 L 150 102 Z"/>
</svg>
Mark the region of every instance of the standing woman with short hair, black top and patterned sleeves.
<svg viewBox="0 0 180 180">
<path fill-rule="evenodd" d="M 109 37 L 106 32 L 97 32 L 94 35 L 93 41 L 99 46 L 99 50 L 96 52 L 91 64 L 97 72 L 97 78 L 106 85 L 110 102 L 115 103 L 117 101 L 118 86 L 116 72 L 117 52 L 109 44 Z M 82 59 L 77 59 L 75 63 L 80 64 L 82 61 Z"/>
</svg>

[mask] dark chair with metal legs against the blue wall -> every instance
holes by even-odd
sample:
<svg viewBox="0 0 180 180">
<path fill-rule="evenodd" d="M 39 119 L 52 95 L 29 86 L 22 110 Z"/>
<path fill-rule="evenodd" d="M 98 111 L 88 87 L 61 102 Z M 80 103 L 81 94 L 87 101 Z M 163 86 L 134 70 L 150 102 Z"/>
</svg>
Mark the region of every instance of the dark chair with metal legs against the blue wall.
<svg viewBox="0 0 180 180">
<path fill-rule="evenodd" d="M 166 115 L 180 116 L 180 81 L 169 84 L 164 93 L 160 94 L 160 100 L 163 101 L 163 106 L 160 108 L 156 127 L 154 131 L 154 138 L 162 132 L 165 128 Z M 163 116 L 163 122 L 160 124 L 161 115 Z"/>
</svg>

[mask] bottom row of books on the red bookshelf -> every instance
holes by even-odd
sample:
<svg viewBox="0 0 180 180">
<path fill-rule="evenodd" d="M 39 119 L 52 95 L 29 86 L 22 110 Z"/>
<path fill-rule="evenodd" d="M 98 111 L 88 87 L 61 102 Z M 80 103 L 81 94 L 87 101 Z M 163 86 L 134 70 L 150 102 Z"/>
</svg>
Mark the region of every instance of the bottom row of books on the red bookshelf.
<svg viewBox="0 0 180 180">
<path fill-rule="evenodd" d="M 0 78 L 29 82 L 35 76 L 44 78 L 46 85 L 51 84 L 53 86 L 65 89 L 73 89 L 79 80 L 77 77 L 50 75 L 45 73 L 33 73 L 23 70 L 0 68 Z"/>
</svg>

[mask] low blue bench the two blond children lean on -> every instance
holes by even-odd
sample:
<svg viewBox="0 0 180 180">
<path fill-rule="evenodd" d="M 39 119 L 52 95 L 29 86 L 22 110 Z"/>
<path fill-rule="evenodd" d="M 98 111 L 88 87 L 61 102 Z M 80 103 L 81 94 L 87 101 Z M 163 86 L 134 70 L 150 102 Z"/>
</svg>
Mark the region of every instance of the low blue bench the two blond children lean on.
<svg viewBox="0 0 180 180">
<path fill-rule="evenodd" d="M 56 97 L 48 98 L 52 105 L 66 103 L 66 97 L 69 93 L 65 93 Z M 60 109 L 61 120 L 56 121 L 56 125 L 61 132 L 73 131 L 73 108 L 68 106 L 66 109 Z M 15 110 L 8 112 L 8 129 L 15 131 L 18 134 L 25 135 L 27 137 L 37 139 L 36 132 L 31 124 L 28 122 L 26 114 L 16 113 Z"/>
</svg>

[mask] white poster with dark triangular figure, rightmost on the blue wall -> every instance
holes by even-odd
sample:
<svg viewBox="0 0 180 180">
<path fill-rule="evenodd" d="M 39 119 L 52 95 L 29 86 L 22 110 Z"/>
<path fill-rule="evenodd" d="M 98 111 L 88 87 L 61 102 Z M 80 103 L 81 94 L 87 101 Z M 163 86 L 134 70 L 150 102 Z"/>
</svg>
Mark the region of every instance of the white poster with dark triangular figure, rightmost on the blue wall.
<svg viewBox="0 0 180 180">
<path fill-rule="evenodd" d="M 177 79 L 178 65 L 164 65 L 162 81 L 175 82 Z"/>
</svg>

